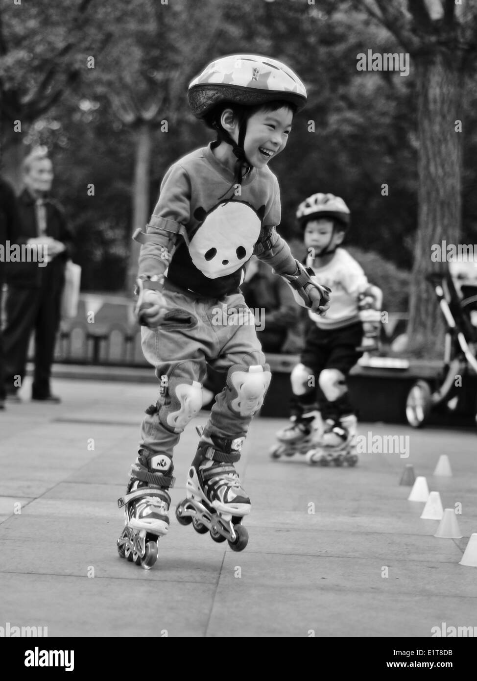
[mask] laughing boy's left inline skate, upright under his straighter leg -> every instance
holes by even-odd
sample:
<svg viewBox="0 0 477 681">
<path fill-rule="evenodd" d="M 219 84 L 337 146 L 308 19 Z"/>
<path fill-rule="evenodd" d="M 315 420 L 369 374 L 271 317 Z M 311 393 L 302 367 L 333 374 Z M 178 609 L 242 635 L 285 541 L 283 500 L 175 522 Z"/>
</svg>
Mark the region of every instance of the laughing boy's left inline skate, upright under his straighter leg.
<svg viewBox="0 0 477 681">
<path fill-rule="evenodd" d="M 158 470 L 162 473 L 157 473 Z M 169 456 L 158 454 L 146 462 L 139 456 L 131 467 L 131 480 L 118 507 L 125 507 L 125 528 L 116 541 L 118 554 L 135 565 L 150 569 L 156 563 L 160 537 L 169 530 L 168 511 L 174 487 L 173 464 Z"/>
</svg>

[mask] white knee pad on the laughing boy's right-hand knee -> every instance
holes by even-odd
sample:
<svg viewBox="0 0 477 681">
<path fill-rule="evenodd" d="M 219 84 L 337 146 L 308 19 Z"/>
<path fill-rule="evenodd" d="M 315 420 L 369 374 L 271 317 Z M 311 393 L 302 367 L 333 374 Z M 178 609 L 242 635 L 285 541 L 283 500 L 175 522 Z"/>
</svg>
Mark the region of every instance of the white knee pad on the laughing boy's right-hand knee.
<svg viewBox="0 0 477 681">
<path fill-rule="evenodd" d="M 227 383 L 227 402 L 232 411 L 240 416 L 253 416 L 263 405 L 263 398 L 268 390 L 272 374 L 268 364 L 264 366 L 232 366 L 229 369 Z"/>
</svg>

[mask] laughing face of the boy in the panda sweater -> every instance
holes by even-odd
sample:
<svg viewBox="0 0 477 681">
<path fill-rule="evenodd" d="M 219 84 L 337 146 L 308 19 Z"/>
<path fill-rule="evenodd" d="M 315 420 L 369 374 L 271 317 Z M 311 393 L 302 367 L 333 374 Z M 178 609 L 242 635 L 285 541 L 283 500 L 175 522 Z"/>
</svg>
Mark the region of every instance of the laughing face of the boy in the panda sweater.
<svg viewBox="0 0 477 681">
<path fill-rule="evenodd" d="M 287 106 L 276 111 L 257 111 L 247 121 L 245 155 L 254 168 L 263 168 L 283 151 L 291 133 L 293 113 Z M 234 135 L 238 141 L 238 127 Z"/>
</svg>

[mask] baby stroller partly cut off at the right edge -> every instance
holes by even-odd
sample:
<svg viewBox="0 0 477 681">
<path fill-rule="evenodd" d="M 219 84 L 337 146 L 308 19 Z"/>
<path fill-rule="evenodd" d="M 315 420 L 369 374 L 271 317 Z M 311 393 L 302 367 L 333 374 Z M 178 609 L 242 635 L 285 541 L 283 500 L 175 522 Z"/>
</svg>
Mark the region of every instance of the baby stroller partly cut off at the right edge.
<svg viewBox="0 0 477 681">
<path fill-rule="evenodd" d="M 446 274 L 429 274 L 427 281 L 435 290 L 446 321 L 444 366 L 432 387 L 422 380 L 411 387 L 406 417 L 414 428 L 423 426 L 438 405 L 455 411 L 459 400 L 467 396 L 463 387 L 456 385 L 457 376 L 465 381 L 465 376 L 477 375 L 477 262 L 451 262 Z M 474 414 L 476 407 L 474 395 Z"/>
</svg>

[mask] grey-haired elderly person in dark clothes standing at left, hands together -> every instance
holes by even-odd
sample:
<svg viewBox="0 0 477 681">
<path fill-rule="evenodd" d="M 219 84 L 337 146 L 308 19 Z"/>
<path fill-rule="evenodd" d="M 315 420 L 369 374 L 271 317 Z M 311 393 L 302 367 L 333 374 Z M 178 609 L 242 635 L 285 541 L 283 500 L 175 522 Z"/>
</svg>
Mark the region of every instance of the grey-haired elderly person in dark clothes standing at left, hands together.
<svg viewBox="0 0 477 681">
<path fill-rule="evenodd" d="M 62 208 L 49 195 L 52 162 L 42 149 L 23 161 L 25 188 L 18 197 L 19 244 L 45 244 L 46 262 L 11 264 L 5 301 L 5 390 L 7 398 L 20 401 L 17 392 L 27 364 L 29 340 L 35 331 L 35 373 L 32 399 L 60 402 L 50 390 L 56 332 L 60 321 L 65 262 L 71 253 L 72 234 Z"/>
</svg>

